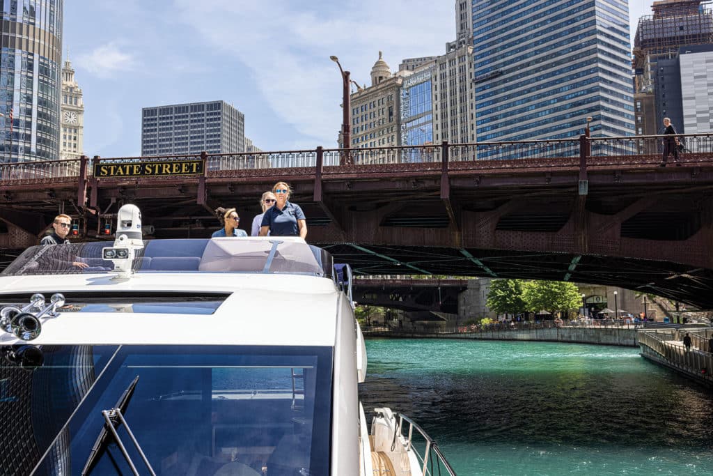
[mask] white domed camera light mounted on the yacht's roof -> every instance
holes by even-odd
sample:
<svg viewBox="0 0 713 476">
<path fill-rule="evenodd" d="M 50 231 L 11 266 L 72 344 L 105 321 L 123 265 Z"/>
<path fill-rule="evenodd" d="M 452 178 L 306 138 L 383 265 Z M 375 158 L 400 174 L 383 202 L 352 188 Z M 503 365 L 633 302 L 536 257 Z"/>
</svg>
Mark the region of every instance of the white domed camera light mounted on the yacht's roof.
<svg viewBox="0 0 713 476">
<path fill-rule="evenodd" d="M 102 257 L 114 263 L 117 278 L 130 278 L 136 251 L 143 248 L 141 211 L 138 206 L 125 205 L 119 208 L 116 221 L 114 245 L 102 249 Z"/>
</svg>

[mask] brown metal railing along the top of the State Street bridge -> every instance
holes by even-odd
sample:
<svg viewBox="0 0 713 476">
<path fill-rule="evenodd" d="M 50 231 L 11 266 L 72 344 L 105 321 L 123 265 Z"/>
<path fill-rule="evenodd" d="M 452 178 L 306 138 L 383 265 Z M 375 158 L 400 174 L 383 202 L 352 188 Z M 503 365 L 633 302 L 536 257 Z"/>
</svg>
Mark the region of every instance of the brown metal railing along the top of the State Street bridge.
<svg viewBox="0 0 713 476">
<path fill-rule="evenodd" d="M 681 134 L 678 136 L 684 163 L 713 162 L 713 133 Z M 660 161 L 665 136 L 629 136 L 608 138 L 568 138 L 538 141 L 500 141 L 481 143 L 441 143 L 421 146 L 369 147 L 272 151 L 250 153 L 201 153 L 186 156 L 154 156 L 129 158 L 96 158 L 101 163 L 131 163 L 135 161 L 178 161 L 205 158 L 205 175 L 227 175 L 230 171 L 266 170 L 274 168 L 314 169 L 318 166 L 378 166 L 393 164 L 470 162 L 473 167 L 587 167 L 653 164 Z M 92 159 L 87 163 L 86 177 L 91 177 Z M 76 178 L 81 171 L 81 159 L 60 161 L 27 161 L 0 164 L 0 182 L 44 183 L 48 180 Z M 423 168 L 423 166 L 421 166 Z M 337 169 L 338 170 L 338 169 Z M 445 169 L 444 169 L 445 170 Z M 309 173 L 309 172 L 306 172 Z"/>
</svg>

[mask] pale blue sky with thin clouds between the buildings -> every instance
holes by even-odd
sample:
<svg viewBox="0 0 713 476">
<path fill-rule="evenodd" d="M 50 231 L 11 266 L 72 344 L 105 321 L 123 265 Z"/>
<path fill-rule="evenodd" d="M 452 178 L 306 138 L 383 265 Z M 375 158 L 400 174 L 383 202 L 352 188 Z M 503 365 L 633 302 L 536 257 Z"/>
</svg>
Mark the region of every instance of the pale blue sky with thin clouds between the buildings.
<svg viewBox="0 0 713 476">
<path fill-rule="evenodd" d="M 223 100 L 263 150 L 336 147 L 342 81 L 384 52 L 443 54 L 453 0 L 65 0 L 65 53 L 84 95 L 84 153 L 140 154 L 141 108 Z M 652 0 L 631 0 L 634 25 Z M 635 27 L 635 26 L 634 26 Z"/>
</svg>

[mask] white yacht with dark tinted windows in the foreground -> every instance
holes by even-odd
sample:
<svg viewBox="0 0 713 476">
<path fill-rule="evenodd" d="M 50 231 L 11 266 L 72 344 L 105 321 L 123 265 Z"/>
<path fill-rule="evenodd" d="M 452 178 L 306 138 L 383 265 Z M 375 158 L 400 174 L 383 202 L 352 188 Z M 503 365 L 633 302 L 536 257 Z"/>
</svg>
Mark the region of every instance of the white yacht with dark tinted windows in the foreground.
<svg viewBox="0 0 713 476">
<path fill-rule="evenodd" d="M 300 238 L 29 248 L 0 274 L 3 475 L 454 475 L 369 409 L 351 271 Z"/>
</svg>

